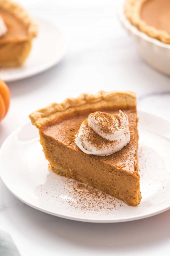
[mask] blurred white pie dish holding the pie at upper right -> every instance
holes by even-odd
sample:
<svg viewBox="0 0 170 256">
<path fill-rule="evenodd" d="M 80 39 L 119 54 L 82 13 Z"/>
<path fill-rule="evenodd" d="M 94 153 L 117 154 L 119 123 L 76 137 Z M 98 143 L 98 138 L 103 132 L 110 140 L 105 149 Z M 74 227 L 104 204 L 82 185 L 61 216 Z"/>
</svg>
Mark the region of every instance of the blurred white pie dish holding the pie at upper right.
<svg viewBox="0 0 170 256">
<path fill-rule="evenodd" d="M 141 57 L 153 68 L 170 75 L 170 44 L 151 38 L 133 26 L 124 14 L 125 2 L 121 5 L 120 20 L 128 34 L 135 39 Z"/>
</svg>

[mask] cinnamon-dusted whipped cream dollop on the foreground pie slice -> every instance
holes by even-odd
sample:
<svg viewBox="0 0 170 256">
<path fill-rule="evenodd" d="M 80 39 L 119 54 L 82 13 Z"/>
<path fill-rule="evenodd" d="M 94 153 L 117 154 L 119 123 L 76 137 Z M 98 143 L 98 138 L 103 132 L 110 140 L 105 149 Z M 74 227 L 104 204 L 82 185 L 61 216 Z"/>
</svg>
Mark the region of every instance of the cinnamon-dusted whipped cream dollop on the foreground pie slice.
<svg viewBox="0 0 170 256">
<path fill-rule="evenodd" d="M 119 114 L 91 113 L 75 136 L 75 144 L 86 154 L 113 154 L 130 141 L 128 116 L 121 110 Z"/>
</svg>

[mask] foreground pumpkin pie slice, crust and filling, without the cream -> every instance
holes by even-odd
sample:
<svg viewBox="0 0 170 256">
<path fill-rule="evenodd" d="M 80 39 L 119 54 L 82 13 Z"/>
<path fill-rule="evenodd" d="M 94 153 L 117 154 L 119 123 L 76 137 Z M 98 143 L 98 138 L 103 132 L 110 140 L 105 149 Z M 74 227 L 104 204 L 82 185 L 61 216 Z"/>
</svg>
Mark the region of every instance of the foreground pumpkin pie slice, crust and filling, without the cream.
<svg viewBox="0 0 170 256">
<path fill-rule="evenodd" d="M 129 121 L 130 141 L 126 146 L 116 153 L 104 156 L 89 155 L 77 147 L 75 135 L 90 113 L 101 111 L 103 114 L 113 115 L 120 110 L 128 116 Z M 82 94 L 60 104 L 53 103 L 33 112 L 29 117 L 39 129 L 45 157 L 56 174 L 84 182 L 123 199 L 130 206 L 140 203 L 134 92 L 100 91 L 96 95 Z"/>
</svg>

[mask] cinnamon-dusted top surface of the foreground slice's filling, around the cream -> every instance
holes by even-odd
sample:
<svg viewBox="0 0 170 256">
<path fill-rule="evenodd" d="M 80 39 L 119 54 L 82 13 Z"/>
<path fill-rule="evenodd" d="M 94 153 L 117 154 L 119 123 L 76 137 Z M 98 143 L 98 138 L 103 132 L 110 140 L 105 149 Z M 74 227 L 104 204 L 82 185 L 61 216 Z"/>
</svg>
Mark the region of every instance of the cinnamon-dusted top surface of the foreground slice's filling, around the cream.
<svg viewBox="0 0 170 256">
<path fill-rule="evenodd" d="M 107 112 L 110 114 L 117 114 L 119 113 L 119 110 L 100 110 L 101 112 Z M 108 155 L 108 156 L 94 156 L 91 155 L 90 157 L 96 158 L 96 159 L 106 159 L 111 164 L 116 165 L 122 165 L 122 163 L 127 164 L 126 168 L 128 172 L 134 172 L 134 166 L 133 164 L 129 164 L 129 159 L 127 159 L 127 156 L 132 157 L 131 161 L 134 162 L 134 153 L 136 150 L 136 143 L 135 143 L 135 130 L 134 130 L 134 120 L 136 120 L 136 112 L 132 110 L 123 110 L 125 114 L 128 115 L 129 119 L 129 129 L 130 129 L 130 142 L 127 144 L 126 147 L 124 147 L 121 151 L 118 151 L 114 154 Z M 54 124 L 47 124 L 45 126 L 41 127 L 41 131 L 47 135 L 56 140 L 59 143 L 62 143 L 66 147 L 71 148 L 72 150 L 81 152 L 82 151 L 77 147 L 75 144 L 75 135 L 77 134 L 78 130 L 80 129 L 81 123 L 88 118 L 88 115 L 91 113 L 91 111 L 74 115 L 70 118 L 66 118 L 63 120 L 56 120 L 56 123 Z"/>
</svg>

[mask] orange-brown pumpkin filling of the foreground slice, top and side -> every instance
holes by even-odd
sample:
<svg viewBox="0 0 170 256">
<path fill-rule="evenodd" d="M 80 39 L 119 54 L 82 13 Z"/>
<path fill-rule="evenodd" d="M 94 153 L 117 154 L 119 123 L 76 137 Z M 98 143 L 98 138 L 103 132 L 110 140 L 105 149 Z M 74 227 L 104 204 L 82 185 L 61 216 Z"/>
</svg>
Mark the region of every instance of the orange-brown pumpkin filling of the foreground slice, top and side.
<svg viewBox="0 0 170 256">
<path fill-rule="evenodd" d="M 119 110 L 97 109 L 110 114 Z M 120 151 L 107 156 L 88 155 L 75 144 L 75 135 L 81 123 L 91 112 L 75 113 L 47 123 L 40 128 L 40 142 L 51 169 L 60 175 L 75 178 L 112 196 L 123 199 L 128 205 L 140 203 L 137 165 L 136 109 L 122 109 L 129 120 L 130 142 Z"/>
</svg>

